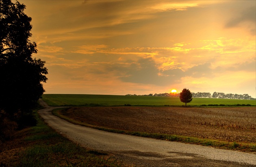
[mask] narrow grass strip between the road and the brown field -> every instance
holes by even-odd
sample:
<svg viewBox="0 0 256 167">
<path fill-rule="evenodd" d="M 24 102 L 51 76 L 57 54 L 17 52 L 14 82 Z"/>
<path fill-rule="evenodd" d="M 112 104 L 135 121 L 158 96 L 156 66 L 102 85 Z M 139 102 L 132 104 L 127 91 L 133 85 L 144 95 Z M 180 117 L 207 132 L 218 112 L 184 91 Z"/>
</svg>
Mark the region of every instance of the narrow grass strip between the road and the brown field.
<svg viewBox="0 0 256 167">
<path fill-rule="evenodd" d="M 117 129 L 108 129 L 104 127 L 96 127 L 86 123 L 82 123 L 76 120 L 73 120 L 67 116 L 63 116 L 61 114 L 61 109 L 53 110 L 53 114 L 63 118 L 71 123 L 91 127 L 94 129 L 109 131 L 113 133 L 121 133 L 127 135 L 135 135 L 140 137 L 149 137 L 158 140 L 167 140 L 167 141 L 175 141 L 175 142 L 182 142 L 182 143 L 189 143 L 189 144 L 198 144 L 202 146 L 211 146 L 214 148 L 221 148 L 221 149 L 228 149 L 228 150 L 239 150 L 243 152 L 253 152 L 256 153 L 256 144 L 248 144 L 242 142 L 224 142 L 219 140 L 212 140 L 212 139 L 201 139 L 196 137 L 187 137 L 187 136 L 179 136 L 179 135 L 169 135 L 169 134 L 159 134 L 159 133 L 142 133 L 142 132 L 134 132 L 134 131 L 121 131 Z"/>
</svg>

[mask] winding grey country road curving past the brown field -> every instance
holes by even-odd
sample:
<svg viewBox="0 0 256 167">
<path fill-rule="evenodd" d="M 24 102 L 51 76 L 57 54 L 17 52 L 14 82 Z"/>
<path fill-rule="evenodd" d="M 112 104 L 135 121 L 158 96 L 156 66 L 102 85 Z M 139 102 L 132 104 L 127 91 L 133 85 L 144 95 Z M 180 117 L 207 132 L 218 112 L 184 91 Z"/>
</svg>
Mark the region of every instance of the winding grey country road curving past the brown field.
<svg viewBox="0 0 256 167">
<path fill-rule="evenodd" d="M 53 116 L 49 107 L 39 114 L 45 122 L 81 146 L 113 154 L 126 164 L 137 166 L 256 166 L 256 154 L 206 146 L 168 142 L 144 137 L 110 133 L 82 127 Z"/>
</svg>

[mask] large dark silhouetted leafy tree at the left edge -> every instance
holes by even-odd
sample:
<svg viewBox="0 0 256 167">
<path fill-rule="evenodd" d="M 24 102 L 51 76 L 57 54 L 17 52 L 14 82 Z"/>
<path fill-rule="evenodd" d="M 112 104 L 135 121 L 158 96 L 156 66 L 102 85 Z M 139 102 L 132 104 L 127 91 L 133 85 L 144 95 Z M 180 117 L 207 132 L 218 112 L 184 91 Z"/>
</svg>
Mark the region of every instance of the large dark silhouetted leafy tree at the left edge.
<svg viewBox="0 0 256 167">
<path fill-rule="evenodd" d="M 10 118 L 31 112 L 45 91 L 45 61 L 33 59 L 37 45 L 29 38 L 31 17 L 26 6 L 11 0 L 0 0 L 0 111 Z"/>
</svg>

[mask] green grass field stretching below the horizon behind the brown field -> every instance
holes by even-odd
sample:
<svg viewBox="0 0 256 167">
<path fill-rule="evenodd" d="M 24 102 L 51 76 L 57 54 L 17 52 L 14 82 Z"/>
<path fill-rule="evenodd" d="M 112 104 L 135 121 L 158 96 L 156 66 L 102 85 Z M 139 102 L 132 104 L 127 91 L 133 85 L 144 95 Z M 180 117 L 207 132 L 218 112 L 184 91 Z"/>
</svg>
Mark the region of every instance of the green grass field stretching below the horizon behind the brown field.
<svg viewBox="0 0 256 167">
<path fill-rule="evenodd" d="M 179 97 L 124 96 L 124 95 L 72 95 L 44 94 L 43 100 L 49 106 L 182 106 Z M 255 100 L 193 98 L 189 106 L 201 105 L 256 106 Z"/>
</svg>

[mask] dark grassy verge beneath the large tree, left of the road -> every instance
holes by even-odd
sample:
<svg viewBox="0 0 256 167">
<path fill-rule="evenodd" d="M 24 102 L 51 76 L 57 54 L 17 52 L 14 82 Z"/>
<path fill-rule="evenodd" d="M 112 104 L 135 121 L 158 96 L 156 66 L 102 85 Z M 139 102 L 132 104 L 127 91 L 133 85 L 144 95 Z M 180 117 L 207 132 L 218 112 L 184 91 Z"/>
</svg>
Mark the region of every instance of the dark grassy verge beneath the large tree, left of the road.
<svg viewBox="0 0 256 167">
<path fill-rule="evenodd" d="M 114 157 L 75 144 L 43 122 L 17 131 L 1 146 L 0 167 L 5 166 L 124 166 Z"/>
</svg>

